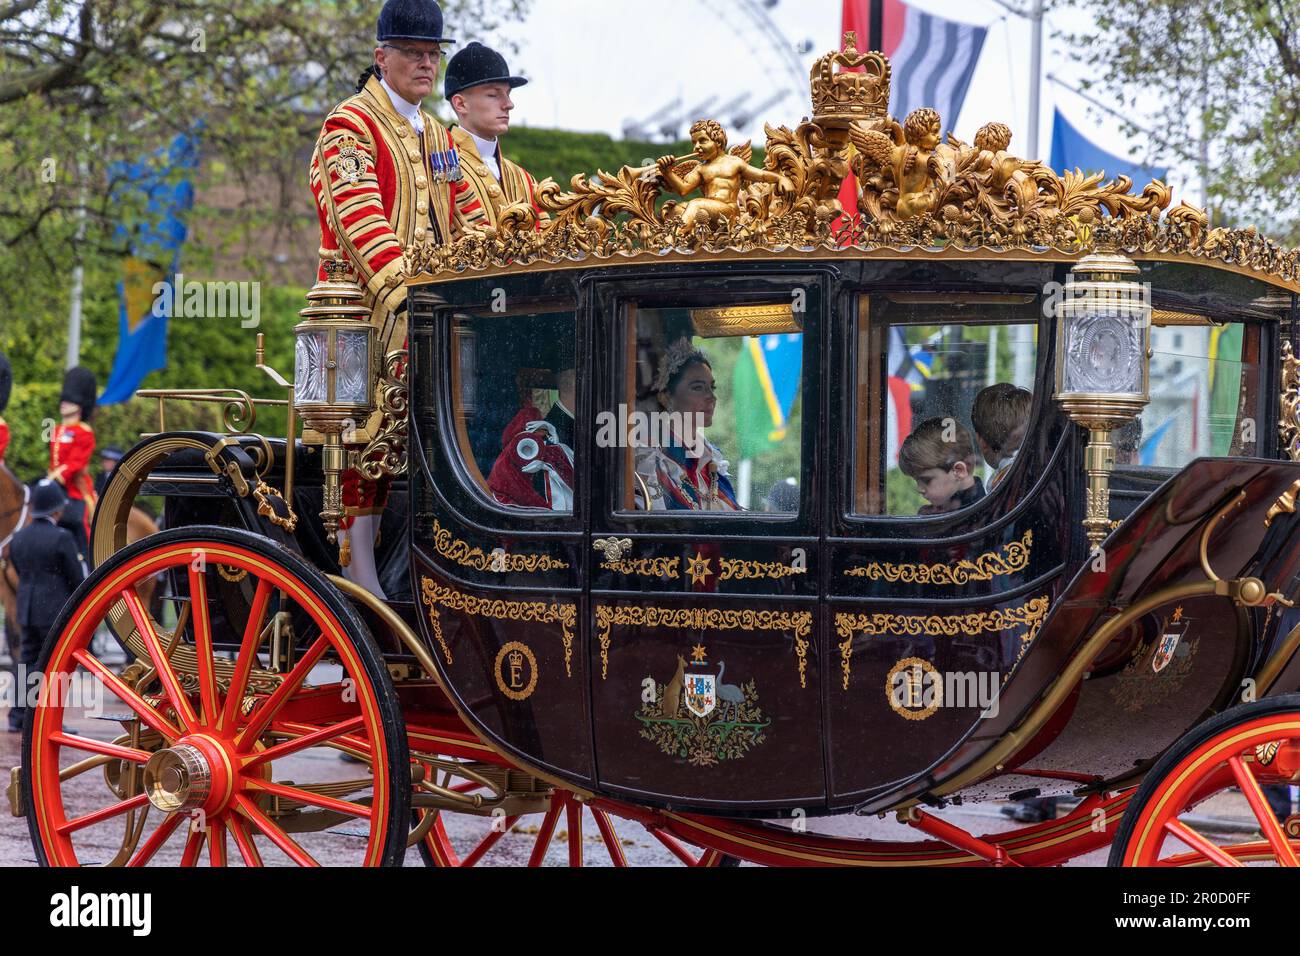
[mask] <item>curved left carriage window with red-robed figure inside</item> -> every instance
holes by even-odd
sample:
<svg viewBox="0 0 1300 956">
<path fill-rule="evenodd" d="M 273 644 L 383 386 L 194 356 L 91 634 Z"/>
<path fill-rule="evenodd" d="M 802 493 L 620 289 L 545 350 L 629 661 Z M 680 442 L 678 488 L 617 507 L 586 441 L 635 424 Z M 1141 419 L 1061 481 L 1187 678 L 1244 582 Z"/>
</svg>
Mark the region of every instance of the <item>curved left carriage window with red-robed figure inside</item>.
<svg viewBox="0 0 1300 956">
<path fill-rule="evenodd" d="M 485 308 L 452 321 L 451 394 L 469 475 L 507 507 L 572 512 L 573 311 Z"/>
</svg>

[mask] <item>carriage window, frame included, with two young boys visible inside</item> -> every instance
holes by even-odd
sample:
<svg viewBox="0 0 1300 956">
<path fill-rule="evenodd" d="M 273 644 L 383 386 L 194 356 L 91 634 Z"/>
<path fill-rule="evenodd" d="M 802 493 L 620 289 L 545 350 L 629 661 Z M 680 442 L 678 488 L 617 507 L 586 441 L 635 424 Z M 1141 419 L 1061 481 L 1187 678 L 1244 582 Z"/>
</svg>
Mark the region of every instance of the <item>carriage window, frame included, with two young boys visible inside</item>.
<svg viewBox="0 0 1300 956">
<path fill-rule="evenodd" d="M 1015 467 L 1037 372 L 1036 297 L 887 295 L 858 329 L 855 511 L 961 511 Z"/>
</svg>

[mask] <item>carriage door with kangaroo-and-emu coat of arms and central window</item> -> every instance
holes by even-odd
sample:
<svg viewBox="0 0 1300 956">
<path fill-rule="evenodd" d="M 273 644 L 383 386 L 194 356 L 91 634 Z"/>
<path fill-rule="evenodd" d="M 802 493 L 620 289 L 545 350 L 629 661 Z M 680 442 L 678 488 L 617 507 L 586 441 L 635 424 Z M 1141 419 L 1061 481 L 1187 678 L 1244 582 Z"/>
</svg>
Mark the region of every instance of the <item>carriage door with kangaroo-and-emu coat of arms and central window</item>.
<svg viewBox="0 0 1300 956">
<path fill-rule="evenodd" d="M 824 799 L 822 284 L 679 272 L 595 290 L 589 666 L 603 791 L 751 809 Z"/>
</svg>

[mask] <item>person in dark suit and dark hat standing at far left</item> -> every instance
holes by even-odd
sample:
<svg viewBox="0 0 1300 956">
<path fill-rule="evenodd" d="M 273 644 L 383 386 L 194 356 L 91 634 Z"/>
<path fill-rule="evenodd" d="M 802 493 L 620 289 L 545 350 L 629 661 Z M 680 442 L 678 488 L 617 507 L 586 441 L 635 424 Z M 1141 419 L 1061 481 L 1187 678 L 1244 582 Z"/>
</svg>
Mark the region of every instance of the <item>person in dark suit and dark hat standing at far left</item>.
<svg viewBox="0 0 1300 956">
<path fill-rule="evenodd" d="M 68 598 L 86 579 L 83 557 L 70 531 L 58 527 L 68 494 L 57 481 L 46 479 L 31 496 L 32 522 L 14 535 L 9 559 L 18 575 L 20 672 L 31 674 L 46 633 L 55 624 Z M 9 732 L 22 731 L 26 717 L 26 682 L 14 687 L 16 706 L 9 710 Z"/>
</svg>

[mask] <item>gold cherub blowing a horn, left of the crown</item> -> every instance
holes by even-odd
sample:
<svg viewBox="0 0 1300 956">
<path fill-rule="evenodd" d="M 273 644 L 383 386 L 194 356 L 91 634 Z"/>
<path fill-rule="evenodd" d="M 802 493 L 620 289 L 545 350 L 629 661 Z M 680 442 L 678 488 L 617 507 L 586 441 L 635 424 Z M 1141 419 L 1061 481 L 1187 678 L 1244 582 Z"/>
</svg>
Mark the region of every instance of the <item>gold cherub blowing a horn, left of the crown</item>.
<svg viewBox="0 0 1300 956">
<path fill-rule="evenodd" d="M 783 193 L 792 193 L 794 186 L 780 173 L 758 169 L 750 165 L 754 151 L 749 143 L 737 146 L 728 152 L 727 131 L 714 120 L 701 120 L 690 127 L 690 143 L 696 147 L 699 163 L 686 160 L 680 164 L 676 156 L 664 156 L 655 165 L 664 185 L 680 196 L 697 189 L 705 195 L 692 199 L 680 209 L 671 208 L 667 216 L 680 216 L 686 230 L 694 229 L 701 220 L 734 220 L 740 215 L 740 193 L 755 182 L 768 182 Z"/>
</svg>

